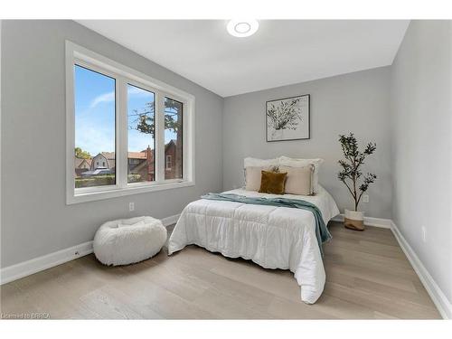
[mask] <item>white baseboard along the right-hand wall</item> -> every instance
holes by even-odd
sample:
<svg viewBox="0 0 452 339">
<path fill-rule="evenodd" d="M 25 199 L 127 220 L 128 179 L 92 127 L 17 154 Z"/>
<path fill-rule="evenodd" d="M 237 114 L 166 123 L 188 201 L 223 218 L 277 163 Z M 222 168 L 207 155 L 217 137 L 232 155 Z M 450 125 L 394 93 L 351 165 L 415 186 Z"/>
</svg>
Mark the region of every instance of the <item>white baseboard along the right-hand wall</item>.
<svg viewBox="0 0 452 339">
<path fill-rule="evenodd" d="M 435 306 L 437 306 L 439 314 L 444 319 L 452 319 L 452 305 L 444 295 L 441 288 L 438 287 L 436 281 L 430 276 L 427 268 L 425 268 L 422 264 L 416 252 L 411 249 L 410 244 L 407 240 L 405 240 L 403 235 L 400 233 L 399 228 L 393 221 L 391 221 L 391 231 L 399 242 L 401 250 L 403 250 L 407 258 L 410 260 L 411 266 L 418 274 L 422 285 L 424 285 L 427 289 L 428 295 L 433 300 L 433 303 L 435 303 Z"/>
</svg>

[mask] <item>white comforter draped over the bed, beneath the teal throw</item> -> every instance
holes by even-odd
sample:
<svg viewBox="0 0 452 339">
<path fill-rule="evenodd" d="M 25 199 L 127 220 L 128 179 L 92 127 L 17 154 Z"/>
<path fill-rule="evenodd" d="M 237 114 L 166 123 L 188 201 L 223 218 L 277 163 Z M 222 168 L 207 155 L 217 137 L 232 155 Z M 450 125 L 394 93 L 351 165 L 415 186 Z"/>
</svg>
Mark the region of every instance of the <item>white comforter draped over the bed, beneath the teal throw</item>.
<svg viewBox="0 0 452 339">
<path fill-rule="evenodd" d="M 339 213 L 332 196 L 320 187 L 315 196 L 264 194 L 242 189 L 250 197 L 284 197 L 314 203 L 325 224 Z M 290 269 L 301 299 L 313 304 L 325 286 L 325 269 L 315 238 L 312 212 L 301 209 L 197 200 L 189 203 L 168 242 L 168 254 L 195 244 L 230 258 L 251 259 L 263 268 Z"/>
</svg>

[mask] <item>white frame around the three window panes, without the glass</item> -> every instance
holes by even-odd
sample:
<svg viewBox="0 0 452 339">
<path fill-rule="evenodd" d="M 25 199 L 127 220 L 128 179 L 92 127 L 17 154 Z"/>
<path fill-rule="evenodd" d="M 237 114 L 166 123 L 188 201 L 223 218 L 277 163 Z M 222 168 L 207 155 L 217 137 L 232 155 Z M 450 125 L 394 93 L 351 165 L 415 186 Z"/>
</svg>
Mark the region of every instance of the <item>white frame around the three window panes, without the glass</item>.
<svg viewBox="0 0 452 339">
<path fill-rule="evenodd" d="M 116 80 L 116 184 L 75 188 L 74 65 L 98 71 Z M 127 183 L 127 83 L 155 93 L 155 181 Z M 181 101 L 183 118 L 182 179 L 165 180 L 165 97 Z M 148 193 L 194 183 L 194 96 L 112 61 L 96 52 L 66 41 L 66 203 L 91 202 L 118 196 Z"/>
</svg>

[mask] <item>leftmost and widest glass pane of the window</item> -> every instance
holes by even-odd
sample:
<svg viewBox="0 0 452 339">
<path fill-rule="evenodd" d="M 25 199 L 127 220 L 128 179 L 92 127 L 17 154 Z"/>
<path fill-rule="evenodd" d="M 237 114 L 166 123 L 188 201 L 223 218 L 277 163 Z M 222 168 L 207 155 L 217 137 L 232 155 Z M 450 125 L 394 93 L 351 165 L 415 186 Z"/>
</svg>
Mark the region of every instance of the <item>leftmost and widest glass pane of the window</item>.
<svg viewBox="0 0 452 339">
<path fill-rule="evenodd" d="M 74 65 L 75 188 L 116 184 L 115 80 Z"/>
</svg>

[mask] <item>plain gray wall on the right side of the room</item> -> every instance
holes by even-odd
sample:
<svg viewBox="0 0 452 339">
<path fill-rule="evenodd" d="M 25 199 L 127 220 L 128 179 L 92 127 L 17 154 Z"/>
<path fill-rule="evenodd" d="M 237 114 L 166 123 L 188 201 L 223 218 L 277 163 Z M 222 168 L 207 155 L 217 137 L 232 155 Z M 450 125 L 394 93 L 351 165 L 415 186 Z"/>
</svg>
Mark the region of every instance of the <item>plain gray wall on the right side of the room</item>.
<svg viewBox="0 0 452 339">
<path fill-rule="evenodd" d="M 393 220 L 449 301 L 451 37 L 449 21 L 412 21 L 391 70 Z"/>
</svg>

